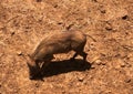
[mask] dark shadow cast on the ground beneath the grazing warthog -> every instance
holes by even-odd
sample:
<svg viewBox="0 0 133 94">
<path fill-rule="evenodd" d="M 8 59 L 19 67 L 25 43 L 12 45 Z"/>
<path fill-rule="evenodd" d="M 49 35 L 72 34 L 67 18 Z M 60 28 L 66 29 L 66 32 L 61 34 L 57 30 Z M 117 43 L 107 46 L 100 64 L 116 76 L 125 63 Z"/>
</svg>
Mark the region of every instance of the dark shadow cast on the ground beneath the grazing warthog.
<svg viewBox="0 0 133 94">
<path fill-rule="evenodd" d="M 83 60 L 64 60 L 51 62 L 47 67 L 42 67 L 43 72 L 41 77 L 53 76 L 72 71 L 85 71 L 91 67 L 89 62 Z"/>
</svg>

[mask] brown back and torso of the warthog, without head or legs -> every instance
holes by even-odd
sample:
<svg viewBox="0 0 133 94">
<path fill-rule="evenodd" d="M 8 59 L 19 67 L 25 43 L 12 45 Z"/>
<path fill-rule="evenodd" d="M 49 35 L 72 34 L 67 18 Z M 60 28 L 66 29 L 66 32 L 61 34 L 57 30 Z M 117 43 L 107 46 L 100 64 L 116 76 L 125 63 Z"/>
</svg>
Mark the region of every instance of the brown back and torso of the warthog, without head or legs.
<svg viewBox="0 0 133 94">
<path fill-rule="evenodd" d="M 84 45 L 86 36 L 80 31 L 55 32 L 45 36 L 35 49 L 32 58 L 45 59 L 57 53 L 65 53 Z"/>
</svg>

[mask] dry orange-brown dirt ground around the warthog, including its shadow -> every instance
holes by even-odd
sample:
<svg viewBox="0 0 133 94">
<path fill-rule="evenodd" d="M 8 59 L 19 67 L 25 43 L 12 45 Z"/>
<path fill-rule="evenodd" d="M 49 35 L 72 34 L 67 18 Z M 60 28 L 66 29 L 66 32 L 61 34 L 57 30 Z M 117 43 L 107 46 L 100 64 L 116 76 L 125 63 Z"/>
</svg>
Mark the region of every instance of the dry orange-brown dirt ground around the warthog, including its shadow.
<svg viewBox="0 0 133 94">
<path fill-rule="evenodd" d="M 23 54 L 70 30 L 95 39 L 88 62 L 57 54 L 43 81 L 29 80 Z M 133 94 L 133 0 L 0 0 L 0 94 Z"/>
</svg>

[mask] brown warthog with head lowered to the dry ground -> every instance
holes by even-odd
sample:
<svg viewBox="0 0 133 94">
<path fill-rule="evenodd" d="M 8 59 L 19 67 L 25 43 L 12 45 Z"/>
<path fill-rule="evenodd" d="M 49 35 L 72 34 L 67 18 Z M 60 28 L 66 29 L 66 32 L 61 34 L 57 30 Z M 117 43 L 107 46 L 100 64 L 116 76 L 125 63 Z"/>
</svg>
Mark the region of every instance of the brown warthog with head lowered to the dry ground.
<svg viewBox="0 0 133 94">
<path fill-rule="evenodd" d="M 71 58 L 72 60 L 79 54 L 85 61 L 86 53 L 83 51 L 85 43 L 86 35 L 80 31 L 55 32 L 44 38 L 29 56 L 30 79 L 35 79 L 41 73 L 39 63 L 43 62 L 43 66 L 47 66 L 53 59 L 53 54 L 66 53 L 73 50 L 75 54 Z"/>
</svg>

